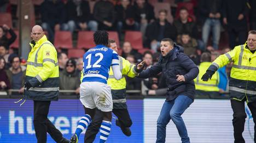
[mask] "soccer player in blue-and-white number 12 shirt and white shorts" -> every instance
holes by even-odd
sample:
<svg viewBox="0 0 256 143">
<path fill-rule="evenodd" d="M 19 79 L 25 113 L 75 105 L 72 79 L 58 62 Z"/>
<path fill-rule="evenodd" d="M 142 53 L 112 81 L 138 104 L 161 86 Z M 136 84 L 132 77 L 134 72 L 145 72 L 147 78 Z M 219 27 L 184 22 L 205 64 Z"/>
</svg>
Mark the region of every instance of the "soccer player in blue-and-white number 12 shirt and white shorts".
<svg viewBox="0 0 256 143">
<path fill-rule="evenodd" d="M 110 86 L 107 85 L 110 66 L 113 69 L 114 78 L 122 77 L 119 67 L 117 52 L 107 47 L 108 33 L 96 31 L 94 33 L 96 47 L 84 54 L 83 80 L 80 84 L 80 101 L 85 107 L 85 115 L 80 119 L 71 143 L 77 143 L 79 135 L 91 122 L 96 108 L 102 111 L 103 121 L 100 128 L 100 143 L 108 138 L 111 128 L 113 101 Z"/>
</svg>

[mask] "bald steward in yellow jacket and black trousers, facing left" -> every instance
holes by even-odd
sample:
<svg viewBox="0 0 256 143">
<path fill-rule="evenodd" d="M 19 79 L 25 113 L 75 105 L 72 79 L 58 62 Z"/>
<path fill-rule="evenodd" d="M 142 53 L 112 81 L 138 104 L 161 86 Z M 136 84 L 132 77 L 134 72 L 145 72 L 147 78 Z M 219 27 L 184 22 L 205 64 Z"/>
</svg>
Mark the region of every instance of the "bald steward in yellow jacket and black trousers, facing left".
<svg viewBox="0 0 256 143">
<path fill-rule="evenodd" d="M 32 49 L 27 59 L 24 96 L 26 100 L 34 101 L 33 123 L 37 142 L 46 142 L 47 133 L 56 142 L 69 142 L 47 117 L 51 101 L 57 101 L 59 96 L 56 49 L 38 25 L 32 28 L 31 37 Z"/>
</svg>

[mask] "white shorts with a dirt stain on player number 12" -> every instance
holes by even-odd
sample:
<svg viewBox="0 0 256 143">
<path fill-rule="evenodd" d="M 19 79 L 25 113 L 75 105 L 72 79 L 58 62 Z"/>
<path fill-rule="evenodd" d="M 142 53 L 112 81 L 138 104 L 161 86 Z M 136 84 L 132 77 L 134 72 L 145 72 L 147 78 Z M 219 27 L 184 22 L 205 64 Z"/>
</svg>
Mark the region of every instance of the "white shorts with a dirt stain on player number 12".
<svg viewBox="0 0 256 143">
<path fill-rule="evenodd" d="M 111 88 L 100 82 L 83 82 L 80 84 L 80 101 L 86 108 L 98 108 L 101 111 L 112 111 L 113 101 Z"/>
</svg>

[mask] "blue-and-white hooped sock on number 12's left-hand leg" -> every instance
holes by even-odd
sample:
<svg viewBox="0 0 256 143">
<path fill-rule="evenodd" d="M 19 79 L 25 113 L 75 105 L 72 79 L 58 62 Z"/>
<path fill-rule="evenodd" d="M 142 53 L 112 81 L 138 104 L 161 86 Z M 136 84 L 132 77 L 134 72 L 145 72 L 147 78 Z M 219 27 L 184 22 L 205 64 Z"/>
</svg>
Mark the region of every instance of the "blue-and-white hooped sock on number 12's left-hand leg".
<svg viewBox="0 0 256 143">
<path fill-rule="evenodd" d="M 88 127 L 88 125 L 91 122 L 91 116 L 88 114 L 85 114 L 79 121 L 77 129 L 75 129 L 75 134 L 77 135 L 77 138 L 79 138 L 79 135 Z"/>
</svg>

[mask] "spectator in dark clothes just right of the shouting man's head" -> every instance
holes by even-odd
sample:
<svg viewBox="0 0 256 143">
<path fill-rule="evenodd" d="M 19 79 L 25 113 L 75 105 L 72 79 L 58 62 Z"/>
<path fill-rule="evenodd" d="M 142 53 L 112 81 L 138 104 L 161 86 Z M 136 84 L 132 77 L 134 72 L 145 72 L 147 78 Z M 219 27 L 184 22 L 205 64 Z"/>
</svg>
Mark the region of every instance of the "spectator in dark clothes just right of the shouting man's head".
<svg viewBox="0 0 256 143">
<path fill-rule="evenodd" d="M 194 38 L 191 38 L 188 33 L 183 33 L 181 38 L 177 39 L 178 45 L 184 48 L 184 53 L 187 54 L 196 65 L 200 63 L 199 54 L 197 51 L 197 42 Z"/>
</svg>

